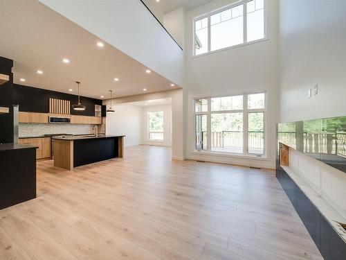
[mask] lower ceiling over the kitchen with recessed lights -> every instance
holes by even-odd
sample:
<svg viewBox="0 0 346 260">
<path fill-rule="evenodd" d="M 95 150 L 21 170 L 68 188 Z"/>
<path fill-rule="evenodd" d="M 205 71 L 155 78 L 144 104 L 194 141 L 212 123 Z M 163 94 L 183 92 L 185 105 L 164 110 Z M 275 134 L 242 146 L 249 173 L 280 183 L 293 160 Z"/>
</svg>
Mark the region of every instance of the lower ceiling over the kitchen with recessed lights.
<svg viewBox="0 0 346 260">
<path fill-rule="evenodd" d="M 36 0 L 0 1 L 0 10 L 0 56 L 14 60 L 17 84 L 76 94 L 79 80 L 82 96 L 104 99 L 109 89 L 120 97 L 179 87 L 106 42 L 96 46 L 98 37 Z"/>
</svg>

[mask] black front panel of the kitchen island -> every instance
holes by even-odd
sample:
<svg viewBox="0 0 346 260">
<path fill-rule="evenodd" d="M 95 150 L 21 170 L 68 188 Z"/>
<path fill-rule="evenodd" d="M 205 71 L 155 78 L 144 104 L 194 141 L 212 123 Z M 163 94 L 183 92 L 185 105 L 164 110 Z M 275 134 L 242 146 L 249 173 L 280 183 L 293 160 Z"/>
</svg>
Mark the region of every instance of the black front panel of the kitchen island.
<svg viewBox="0 0 346 260">
<path fill-rule="evenodd" d="M 76 140 L 73 144 L 73 166 L 78 167 L 118 157 L 118 138 Z"/>
</svg>

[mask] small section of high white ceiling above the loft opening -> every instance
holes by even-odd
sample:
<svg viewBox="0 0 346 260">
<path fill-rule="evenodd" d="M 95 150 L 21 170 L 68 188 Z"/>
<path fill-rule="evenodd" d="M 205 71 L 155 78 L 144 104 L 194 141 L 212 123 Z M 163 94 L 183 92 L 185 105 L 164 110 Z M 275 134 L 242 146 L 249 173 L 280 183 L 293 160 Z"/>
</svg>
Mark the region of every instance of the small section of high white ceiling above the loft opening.
<svg viewBox="0 0 346 260">
<path fill-rule="evenodd" d="M 210 0 L 160 0 L 158 2 L 156 0 L 145 0 L 145 3 L 148 3 L 155 10 L 160 10 L 163 14 L 180 7 L 187 11 L 208 2 Z"/>
</svg>

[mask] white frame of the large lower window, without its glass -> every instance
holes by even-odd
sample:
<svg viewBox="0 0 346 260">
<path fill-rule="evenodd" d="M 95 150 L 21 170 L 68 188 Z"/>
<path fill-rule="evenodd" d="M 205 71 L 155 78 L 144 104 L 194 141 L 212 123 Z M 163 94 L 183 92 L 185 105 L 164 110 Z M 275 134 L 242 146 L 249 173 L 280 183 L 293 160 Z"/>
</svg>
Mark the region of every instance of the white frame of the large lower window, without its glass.
<svg viewBox="0 0 346 260">
<path fill-rule="evenodd" d="M 248 108 L 248 95 L 252 94 L 264 94 L 264 108 L 256 108 L 249 109 Z M 219 110 L 219 111 L 211 111 L 211 99 L 212 98 L 222 98 L 227 96 L 243 96 L 243 109 L 242 110 Z M 199 99 L 206 99 L 208 101 L 208 111 L 205 112 L 197 112 L 195 101 Z M 215 154 L 215 155 L 228 155 L 228 156 L 236 156 L 236 157 L 255 157 L 258 159 L 266 159 L 268 156 L 268 132 L 267 132 L 267 114 L 268 114 L 268 93 L 266 91 L 258 91 L 258 92 L 247 92 L 247 93 L 232 93 L 232 94 L 222 94 L 222 95 L 212 95 L 212 96 L 198 96 L 192 98 L 193 105 L 193 116 L 194 116 L 194 144 L 193 151 L 195 153 L 204 153 L 204 154 Z M 263 154 L 258 155 L 256 153 L 248 153 L 248 114 L 253 112 L 263 112 Z M 211 139 L 211 115 L 212 114 L 226 114 L 226 113 L 243 113 L 243 153 L 229 153 L 222 151 L 213 151 L 212 150 L 212 139 Z M 197 149 L 196 148 L 196 116 L 205 114 L 207 116 L 207 149 Z"/>
</svg>

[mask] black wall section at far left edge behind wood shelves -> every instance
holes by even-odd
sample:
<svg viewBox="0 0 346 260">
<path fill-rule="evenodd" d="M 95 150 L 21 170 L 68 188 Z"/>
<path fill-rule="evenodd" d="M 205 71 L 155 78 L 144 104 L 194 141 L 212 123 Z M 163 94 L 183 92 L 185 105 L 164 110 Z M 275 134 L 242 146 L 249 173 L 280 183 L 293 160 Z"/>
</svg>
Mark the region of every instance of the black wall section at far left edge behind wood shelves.
<svg viewBox="0 0 346 260">
<path fill-rule="evenodd" d="M 0 107 L 9 107 L 10 113 L 0 114 L 0 144 L 13 143 L 13 60 L 0 57 L 0 73 L 10 76 L 0 85 Z"/>
</svg>

